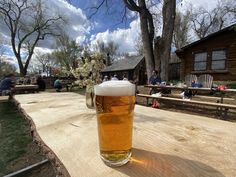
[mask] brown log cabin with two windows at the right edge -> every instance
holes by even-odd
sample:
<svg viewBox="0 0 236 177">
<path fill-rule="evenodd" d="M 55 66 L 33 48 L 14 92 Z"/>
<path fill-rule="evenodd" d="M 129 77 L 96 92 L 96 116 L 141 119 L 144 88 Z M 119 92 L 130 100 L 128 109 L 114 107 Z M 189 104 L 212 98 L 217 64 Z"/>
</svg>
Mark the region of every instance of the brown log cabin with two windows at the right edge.
<svg viewBox="0 0 236 177">
<path fill-rule="evenodd" d="M 236 81 L 236 24 L 176 51 L 181 59 L 180 78 L 210 74 L 214 81 Z"/>
</svg>

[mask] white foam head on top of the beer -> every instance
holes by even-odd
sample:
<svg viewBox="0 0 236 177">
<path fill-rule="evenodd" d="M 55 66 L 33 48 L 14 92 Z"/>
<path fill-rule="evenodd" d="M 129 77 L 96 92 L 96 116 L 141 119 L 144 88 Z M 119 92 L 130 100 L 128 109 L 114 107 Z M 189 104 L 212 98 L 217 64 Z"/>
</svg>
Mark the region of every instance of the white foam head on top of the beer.
<svg viewBox="0 0 236 177">
<path fill-rule="evenodd" d="M 135 85 L 129 81 L 106 81 L 95 86 L 95 95 L 100 96 L 132 96 Z"/>
</svg>

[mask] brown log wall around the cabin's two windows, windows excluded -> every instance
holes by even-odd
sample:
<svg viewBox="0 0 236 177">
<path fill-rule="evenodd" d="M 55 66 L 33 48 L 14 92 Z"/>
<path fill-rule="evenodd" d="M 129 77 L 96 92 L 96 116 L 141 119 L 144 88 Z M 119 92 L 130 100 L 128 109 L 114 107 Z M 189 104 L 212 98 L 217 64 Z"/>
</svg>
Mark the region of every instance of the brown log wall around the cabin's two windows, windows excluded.
<svg viewBox="0 0 236 177">
<path fill-rule="evenodd" d="M 211 54 L 213 50 L 226 50 L 226 69 L 211 70 Z M 196 52 L 207 52 L 207 70 L 194 71 L 194 54 Z M 211 74 L 214 81 L 236 81 L 236 31 L 225 31 L 219 35 L 201 41 L 179 54 L 181 63 L 181 79 L 187 74 Z"/>
</svg>

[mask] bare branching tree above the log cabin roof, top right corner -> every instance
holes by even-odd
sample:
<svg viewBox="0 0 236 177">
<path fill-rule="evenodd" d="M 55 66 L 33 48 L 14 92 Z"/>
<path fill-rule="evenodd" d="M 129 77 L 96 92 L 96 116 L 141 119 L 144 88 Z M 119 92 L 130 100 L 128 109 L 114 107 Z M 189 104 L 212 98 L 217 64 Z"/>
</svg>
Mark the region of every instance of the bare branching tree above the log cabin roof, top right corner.
<svg viewBox="0 0 236 177">
<path fill-rule="evenodd" d="M 235 23 L 235 1 L 221 2 L 212 10 L 204 7 L 193 9 L 191 5 L 192 27 L 199 39 L 206 37 L 208 34 L 219 31 L 225 26 Z"/>
</svg>

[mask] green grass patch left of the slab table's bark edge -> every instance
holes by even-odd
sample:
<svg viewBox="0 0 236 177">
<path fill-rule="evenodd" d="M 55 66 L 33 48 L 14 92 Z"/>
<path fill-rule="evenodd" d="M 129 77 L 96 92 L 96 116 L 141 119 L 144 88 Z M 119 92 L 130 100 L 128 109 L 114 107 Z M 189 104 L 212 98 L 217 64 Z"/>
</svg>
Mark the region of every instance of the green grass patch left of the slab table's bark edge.
<svg viewBox="0 0 236 177">
<path fill-rule="evenodd" d="M 11 102 L 0 103 L 0 176 L 8 173 L 7 165 L 27 151 L 32 142 L 25 119 Z"/>
</svg>

